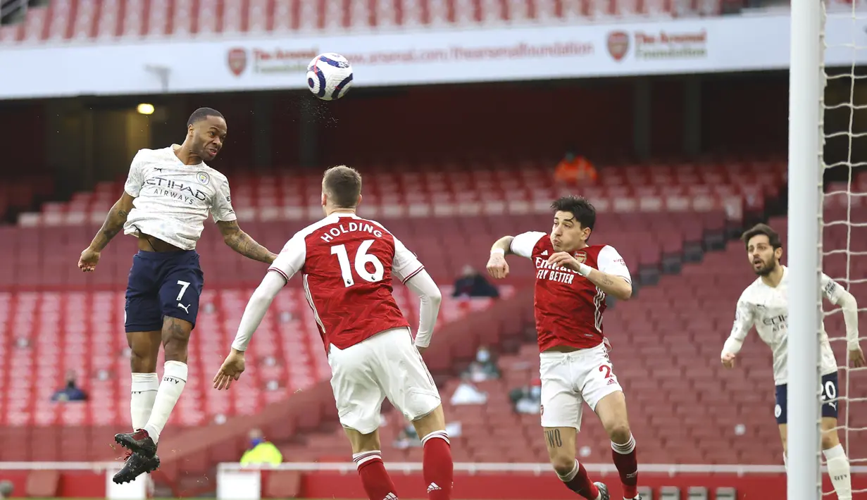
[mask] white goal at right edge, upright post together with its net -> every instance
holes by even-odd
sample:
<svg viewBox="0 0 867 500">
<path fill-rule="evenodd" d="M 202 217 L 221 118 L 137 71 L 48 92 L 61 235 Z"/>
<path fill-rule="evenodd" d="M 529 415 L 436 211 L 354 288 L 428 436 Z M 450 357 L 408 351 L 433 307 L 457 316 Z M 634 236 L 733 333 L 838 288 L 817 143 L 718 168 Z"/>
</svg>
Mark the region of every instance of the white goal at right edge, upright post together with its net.
<svg viewBox="0 0 867 500">
<path fill-rule="evenodd" d="M 817 270 L 822 269 L 848 289 L 859 302 L 861 324 L 867 322 L 865 5 L 863 0 L 792 2 L 786 250 L 792 272 L 789 373 L 797 375 L 790 379 L 788 408 L 790 499 L 837 498 L 827 475 L 818 467 L 824 463 L 818 432 L 823 394 L 836 399 L 838 436 L 851 465 L 867 464 L 867 368 L 852 366 L 842 311 L 819 306 L 822 299 L 818 282 L 814 281 L 818 280 Z M 818 32 L 812 31 L 813 25 Z M 818 54 L 807 45 L 818 47 Z M 814 108 L 813 102 L 820 106 Z M 815 151 L 809 144 L 810 134 L 818 139 Z M 815 220 L 817 213 L 820 217 Z M 819 319 L 825 321 L 837 356 L 837 393 L 819 380 L 818 352 L 811 350 L 817 344 Z M 811 362 L 816 369 L 799 371 L 799 367 L 809 367 Z M 799 406 L 801 402 L 804 406 Z M 799 408 L 803 411 L 800 414 Z M 863 477 L 852 476 L 852 490 L 854 499 L 867 500 Z"/>
</svg>

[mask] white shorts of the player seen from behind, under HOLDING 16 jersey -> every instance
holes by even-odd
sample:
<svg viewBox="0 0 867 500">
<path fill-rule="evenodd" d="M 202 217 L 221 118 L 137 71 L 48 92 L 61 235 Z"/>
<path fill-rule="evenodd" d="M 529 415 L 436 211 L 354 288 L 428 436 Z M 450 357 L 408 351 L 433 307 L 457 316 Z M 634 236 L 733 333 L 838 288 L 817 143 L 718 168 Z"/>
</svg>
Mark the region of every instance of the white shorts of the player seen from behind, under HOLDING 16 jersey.
<svg viewBox="0 0 867 500">
<path fill-rule="evenodd" d="M 380 426 L 388 398 L 407 420 L 440 406 L 440 392 L 408 328 L 393 328 L 345 349 L 329 346 L 331 388 L 340 423 L 362 434 Z"/>
</svg>

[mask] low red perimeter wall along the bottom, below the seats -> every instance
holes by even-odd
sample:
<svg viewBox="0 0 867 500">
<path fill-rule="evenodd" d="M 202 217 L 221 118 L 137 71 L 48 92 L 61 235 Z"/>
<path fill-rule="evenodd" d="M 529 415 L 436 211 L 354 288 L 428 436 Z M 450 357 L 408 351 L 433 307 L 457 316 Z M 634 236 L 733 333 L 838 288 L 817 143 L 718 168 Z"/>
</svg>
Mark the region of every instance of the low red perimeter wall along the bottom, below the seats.
<svg viewBox="0 0 867 500">
<path fill-rule="evenodd" d="M 152 494 L 150 477 L 115 485 L 111 477 L 121 462 L 10 463 L 0 462 L 0 481 L 11 481 L 12 497 L 112 498 L 140 500 Z M 586 464 L 594 477 L 613 486 L 618 476 L 610 464 Z M 424 497 L 421 464 L 388 464 L 394 486 L 407 498 Z M 766 465 L 642 465 L 642 487 L 657 497 L 662 488 L 675 487 L 686 497 L 690 488 L 705 488 L 716 498 L 717 488 L 733 488 L 737 500 L 782 498 L 786 473 L 782 466 Z M 852 468 L 852 487 L 867 487 L 867 467 Z M 274 470 L 243 469 L 220 464 L 216 477 L 207 479 L 218 500 L 260 498 L 365 498 L 355 464 L 287 463 Z M 831 484 L 825 475 L 824 490 Z M 455 464 L 455 495 L 466 500 L 550 500 L 574 498 L 550 471 L 549 464 Z M 180 497 L 186 491 L 178 492 Z"/>
</svg>

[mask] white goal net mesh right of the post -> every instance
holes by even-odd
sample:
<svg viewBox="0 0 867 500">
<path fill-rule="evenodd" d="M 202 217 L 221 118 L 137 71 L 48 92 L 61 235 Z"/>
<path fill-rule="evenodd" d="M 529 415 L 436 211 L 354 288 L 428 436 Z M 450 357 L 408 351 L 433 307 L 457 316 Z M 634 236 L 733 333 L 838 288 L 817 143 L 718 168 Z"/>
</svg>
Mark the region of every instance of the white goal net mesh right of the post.
<svg viewBox="0 0 867 500">
<path fill-rule="evenodd" d="M 867 11 L 857 2 L 829 5 L 829 26 L 846 26 L 844 40 L 825 38 L 827 51 L 851 55 L 849 67 L 825 68 L 824 192 L 822 204 L 822 269 L 848 289 L 858 302 L 860 324 L 867 322 Z M 825 307 L 825 328 L 837 354 L 839 393 L 838 436 L 852 466 L 867 464 L 867 368 L 853 367 L 848 356 L 846 328 L 840 308 Z M 867 347 L 865 345 L 864 347 Z M 826 385 L 827 386 L 827 385 Z M 820 391 L 823 387 L 820 387 Z M 823 497 L 837 498 L 826 478 Z M 852 497 L 867 499 L 867 485 L 852 477 Z"/>
</svg>

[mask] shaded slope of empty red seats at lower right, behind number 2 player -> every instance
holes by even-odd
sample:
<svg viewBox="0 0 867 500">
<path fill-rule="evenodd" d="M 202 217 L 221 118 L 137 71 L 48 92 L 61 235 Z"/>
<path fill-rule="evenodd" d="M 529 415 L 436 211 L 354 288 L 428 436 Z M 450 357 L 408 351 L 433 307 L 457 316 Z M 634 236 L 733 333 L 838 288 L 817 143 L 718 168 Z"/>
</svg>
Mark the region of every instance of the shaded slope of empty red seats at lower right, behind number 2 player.
<svg viewBox="0 0 867 500">
<path fill-rule="evenodd" d="M 845 218 L 841 213 L 826 214 L 829 219 Z M 853 211 L 851 220 L 867 220 L 867 211 Z M 786 223 L 786 218 L 770 221 L 784 232 Z M 864 231 L 855 232 L 850 241 L 857 243 L 851 245 L 852 250 L 864 251 L 867 237 Z M 826 231 L 825 244 L 846 248 L 847 236 L 846 231 L 836 228 Z M 614 347 L 611 358 L 627 391 L 631 412 L 637 416 L 631 422 L 633 432 L 641 442 L 642 460 L 648 463 L 774 464 L 780 460 L 772 419 L 770 351 L 753 334 L 741 351 L 737 369 L 725 370 L 719 362 L 720 348 L 731 328 L 734 302 L 755 279 L 744 254 L 740 241 L 730 242 L 724 251 L 707 253 L 701 263 L 685 264 L 681 274 L 663 276 L 657 286 L 641 289 L 638 300 L 617 304 L 606 314 L 605 328 Z M 826 258 L 825 270 L 845 283 L 841 263 Z M 857 276 L 865 274 L 867 269 L 851 269 L 856 282 L 848 288 L 858 298 L 867 296 L 867 283 L 857 282 Z M 842 315 L 832 314 L 825 321 L 831 336 L 844 331 Z M 519 334 L 520 328 L 512 328 L 511 333 Z M 532 333 L 530 327 L 528 338 Z M 844 342 L 833 346 L 838 360 L 844 360 Z M 501 379 L 476 384 L 490 395 L 486 405 L 447 404 L 449 418 L 463 427 L 461 437 L 454 438 L 456 456 L 479 462 L 544 462 L 547 455 L 538 416 L 512 412 L 508 398 L 513 387 L 538 377 L 538 348 L 535 343 L 526 343 L 517 354 L 502 357 L 499 367 Z M 850 398 L 867 396 L 864 384 L 854 381 L 863 378 L 863 374 L 851 374 Z M 449 380 L 442 389 L 444 396 L 450 397 L 458 383 Z M 844 384 L 845 375 L 841 374 L 841 386 Z M 841 416 L 846 415 L 847 403 L 840 405 Z M 864 426 L 864 418 L 858 415 L 848 413 L 851 428 Z M 394 442 L 403 425 L 400 415 L 393 414 L 381 429 L 382 442 Z M 857 433 L 848 438 L 852 449 L 867 445 Z M 286 445 L 284 453 L 327 460 L 345 454 L 343 440 L 342 431 L 336 428 Z M 610 453 L 609 439 L 592 416 L 584 420 L 581 446 L 588 447 L 584 453 L 593 462 L 604 461 Z M 389 459 L 420 460 L 419 449 L 385 447 Z"/>
</svg>

